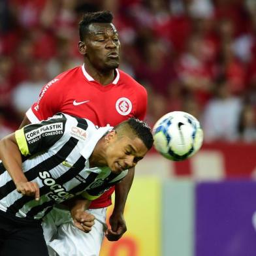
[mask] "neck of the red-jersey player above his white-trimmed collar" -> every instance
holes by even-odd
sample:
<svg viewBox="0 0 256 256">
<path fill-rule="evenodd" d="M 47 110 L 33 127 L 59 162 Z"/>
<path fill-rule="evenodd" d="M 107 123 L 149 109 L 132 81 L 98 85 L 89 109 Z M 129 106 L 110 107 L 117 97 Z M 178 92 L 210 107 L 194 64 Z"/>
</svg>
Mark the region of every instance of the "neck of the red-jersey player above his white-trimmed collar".
<svg viewBox="0 0 256 256">
<path fill-rule="evenodd" d="M 103 86 L 106 86 L 107 84 L 110 84 L 113 82 L 115 78 L 115 69 L 108 69 L 106 71 L 101 71 L 99 69 L 96 69 L 89 63 L 89 61 L 84 61 L 84 68 L 86 69 L 86 72 L 97 82 L 102 84 Z"/>
</svg>

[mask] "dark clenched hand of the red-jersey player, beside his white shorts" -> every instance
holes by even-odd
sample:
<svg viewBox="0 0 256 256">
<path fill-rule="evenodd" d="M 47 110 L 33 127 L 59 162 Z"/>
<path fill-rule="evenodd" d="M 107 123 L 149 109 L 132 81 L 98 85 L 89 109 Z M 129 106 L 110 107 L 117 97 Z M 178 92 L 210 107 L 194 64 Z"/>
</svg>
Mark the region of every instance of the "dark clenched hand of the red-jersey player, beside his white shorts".
<svg viewBox="0 0 256 256">
<path fill-rule="evenodd" d="M 117 241 L 127 231 L 125 219 L 122 213 L 113 213 L 109 219 L 111 229 L 106 231 L 108 241 Z"/>
</svg>

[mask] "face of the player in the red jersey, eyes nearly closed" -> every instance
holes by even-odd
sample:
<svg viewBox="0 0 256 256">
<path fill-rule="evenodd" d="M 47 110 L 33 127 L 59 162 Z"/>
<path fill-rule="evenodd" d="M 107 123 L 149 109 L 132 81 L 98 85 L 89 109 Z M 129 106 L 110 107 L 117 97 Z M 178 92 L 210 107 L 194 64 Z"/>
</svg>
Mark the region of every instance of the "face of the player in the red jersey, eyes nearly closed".
<svg viewBox="0 0 256 256">
<path fill-rule="evenodd" d="M 120 41 L 113 24 L 90 24 L 85 39 L 86 57 L 101 71 L 116 69 L 120 63 Z"/>
</svg>

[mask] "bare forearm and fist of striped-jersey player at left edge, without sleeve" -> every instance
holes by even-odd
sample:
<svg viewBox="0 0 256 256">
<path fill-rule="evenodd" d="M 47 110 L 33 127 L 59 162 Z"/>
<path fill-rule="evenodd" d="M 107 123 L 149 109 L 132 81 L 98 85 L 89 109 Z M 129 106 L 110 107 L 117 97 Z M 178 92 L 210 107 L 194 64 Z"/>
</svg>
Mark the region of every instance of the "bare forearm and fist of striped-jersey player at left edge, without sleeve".
<svg viewBox="0 0 256 256">
<path fill-rule="evenodd" d="M 25 149 L 24 149 L 25 150 Z M 36 182 L 28 182 L 22 170 L 22 153 L 16 141 L 15 133 L 5 136 L 0 141 L 0 157 L 16 189 L 23 195 L 39 200 L 39 186 Z"/>
</svg>

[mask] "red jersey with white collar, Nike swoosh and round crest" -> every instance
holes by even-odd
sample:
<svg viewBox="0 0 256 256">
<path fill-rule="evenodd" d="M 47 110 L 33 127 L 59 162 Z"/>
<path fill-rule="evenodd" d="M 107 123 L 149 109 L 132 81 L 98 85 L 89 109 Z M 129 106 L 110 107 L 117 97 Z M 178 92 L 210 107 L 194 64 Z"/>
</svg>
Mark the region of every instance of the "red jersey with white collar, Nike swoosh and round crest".
<svg viewBox="0 0 256 256">
<path fill-rule="evenodd" d="M 143 120 L 146 115 L 147 92 L 131 76 L 116 69 L 116 78 L 103 86 L 86 72 L 83 66 L 75 67 L 46 84 L 39 101 L 27 110 L 31 123 L 46 120 L 57 112 L 87 118 L 95 125 L 111 126 L 135 117 Z M 99 199 L 91 202 L 90 208 L 103 208 L 111 204 L 114 187 Z"/>
</svg>

